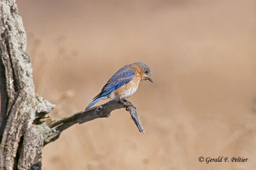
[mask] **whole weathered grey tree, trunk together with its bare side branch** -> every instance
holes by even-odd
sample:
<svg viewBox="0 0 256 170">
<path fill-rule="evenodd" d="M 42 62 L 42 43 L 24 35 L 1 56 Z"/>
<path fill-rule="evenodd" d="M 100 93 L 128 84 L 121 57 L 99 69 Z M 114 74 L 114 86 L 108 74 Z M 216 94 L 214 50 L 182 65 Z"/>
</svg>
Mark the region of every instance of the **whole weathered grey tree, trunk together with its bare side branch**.
<svg viewBox="0 0 256 170">
<path fill-rule="evenodd" d="M 42 148 L 74 124 L 109 117 L 119 108 L 130 111 L 140 132 L 145 132 L 136 108 L 109 101 L 67 118 L 51 120 L 54 104 L 35 93 L 26 32 L 15 0 L 0 0 L 0 169 L 41 169 Z"/>
</svg>

